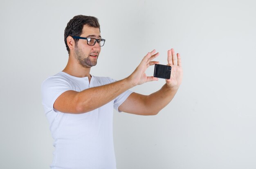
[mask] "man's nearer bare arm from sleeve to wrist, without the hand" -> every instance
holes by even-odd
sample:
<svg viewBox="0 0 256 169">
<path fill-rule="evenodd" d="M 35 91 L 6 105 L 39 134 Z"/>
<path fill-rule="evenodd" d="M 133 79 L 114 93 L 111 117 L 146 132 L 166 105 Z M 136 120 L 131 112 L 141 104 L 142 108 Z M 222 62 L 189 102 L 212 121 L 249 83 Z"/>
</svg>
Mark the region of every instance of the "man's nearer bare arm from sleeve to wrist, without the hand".
<svg viewBox="0 0 256 169">
<path fill-rule="evenodd" d="M 80 92 L 66 91 L 56 99 L 54 109 L 63 113 L 86 113 L 107 104 L 131 87 L 133 85 L 129 78 L 125 78 Z"/>
</svg>

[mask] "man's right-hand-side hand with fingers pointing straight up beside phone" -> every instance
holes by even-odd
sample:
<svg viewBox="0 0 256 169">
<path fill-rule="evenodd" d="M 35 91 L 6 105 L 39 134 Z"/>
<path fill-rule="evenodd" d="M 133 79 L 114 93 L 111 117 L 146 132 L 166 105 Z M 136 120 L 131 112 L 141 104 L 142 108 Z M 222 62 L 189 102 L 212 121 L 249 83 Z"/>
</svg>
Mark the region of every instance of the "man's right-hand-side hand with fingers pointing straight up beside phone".
<svg viewBox="0 0 256 169">
<path fill-rule="evenodd" d="M 174 49 L 168 50 L 168 66 L 171 66 L 171 78 L 166 79 L 166 85 L 172 89 L 178 89 L 183 78 L 183 70 L 181 66 L 181 58 L 180 53 L 175 55 Z"/>
</svg>

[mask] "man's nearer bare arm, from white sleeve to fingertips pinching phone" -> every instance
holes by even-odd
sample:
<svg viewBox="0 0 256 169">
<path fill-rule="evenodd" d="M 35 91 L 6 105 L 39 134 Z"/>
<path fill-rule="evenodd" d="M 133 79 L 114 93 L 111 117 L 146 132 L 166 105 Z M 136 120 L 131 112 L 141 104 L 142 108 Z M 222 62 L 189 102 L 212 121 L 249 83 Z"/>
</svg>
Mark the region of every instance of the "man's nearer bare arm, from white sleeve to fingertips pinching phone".
<svg viewBox="0 0 256 169">
<path fill-rule="evenodd" d="M 81 92 L 65 91 L 54 102 L 54 109 L 63 113 L 85 113 L 105 105 L 136 85 L 157 80 L 157 78 L 148 77 L 145 74 L 146 69 L 150 65 L 157 63 L 151 61 L 159 55 L 159 53 L 154 53 L 155 50 L 148 53 L 128 78 L 108 85 L 85 89 Z"/>
</svg>

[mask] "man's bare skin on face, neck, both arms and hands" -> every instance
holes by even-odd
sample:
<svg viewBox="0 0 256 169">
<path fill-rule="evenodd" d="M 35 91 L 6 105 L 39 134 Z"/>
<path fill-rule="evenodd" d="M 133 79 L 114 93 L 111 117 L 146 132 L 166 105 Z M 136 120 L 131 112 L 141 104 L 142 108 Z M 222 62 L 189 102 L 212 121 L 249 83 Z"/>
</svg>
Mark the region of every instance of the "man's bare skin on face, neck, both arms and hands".
<svg viewBox="0 0 256 169">
<path fill-rule="evenodd" d="M 85 25 L 81 37 L 101 38 L 98 28 L 88 27 Z M 63 72 L 76 77 L 88 77 L 91 80 L 90 68 L 97 64 L 97 59 L 101 51 L 98 43 L 89 46 L 86 40 L 79 40 L 75 45 L 74 39 L 67 37 L 67 44 L 70 48 L 70 56 L 67 66 Z M 97 109 L 111 100 L 115 99 L 124 91 L 141 85 L 145 82 L 158 80 L 153 76 L 146 76 L 146 69 L 159 62 L 153 61 L 159 53 L 153 50 L 148 52 L 141 60 L 138 67 L 130 76 L 117 82 L 92 87 L 83 91 L 65 91 L 59 96 L 55 103 L 54 109 L 63 113 L 86 113 Z M 96 57 L 92 55 L 97 55 Z M 175 54 L 173 49 L 167 52 L 168 65 L 172 67 L 171 78 L 166 80 L 165 85 L 148 96 L 139 93 L 132 93 L 119 106 L 119 111 L 133 113 L 138 115 L 156 115 L 163 109 L 175 96 L 183 78 L 180 54 Z"/>
</svg>

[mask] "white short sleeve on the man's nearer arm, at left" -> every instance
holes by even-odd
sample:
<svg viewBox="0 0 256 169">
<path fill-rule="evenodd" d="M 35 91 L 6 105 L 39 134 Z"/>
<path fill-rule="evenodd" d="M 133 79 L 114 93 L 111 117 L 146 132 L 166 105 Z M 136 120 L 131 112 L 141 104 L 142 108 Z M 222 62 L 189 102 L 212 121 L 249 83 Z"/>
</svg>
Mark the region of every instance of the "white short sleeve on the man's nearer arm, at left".
<svg viewBox="0 0 256 169">
<path fill-rule="evenodd" d="M 72 90 L 72 86 L 65 78 L 58 76 L 47 78 L 41 86 L 42 104 L 44 108 L 53 110 L 55 100 L 68 90 Z"/>
</svg>

